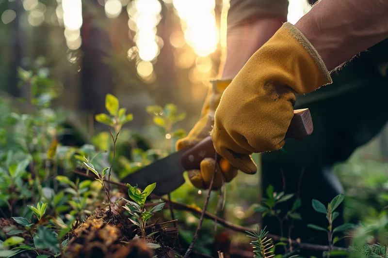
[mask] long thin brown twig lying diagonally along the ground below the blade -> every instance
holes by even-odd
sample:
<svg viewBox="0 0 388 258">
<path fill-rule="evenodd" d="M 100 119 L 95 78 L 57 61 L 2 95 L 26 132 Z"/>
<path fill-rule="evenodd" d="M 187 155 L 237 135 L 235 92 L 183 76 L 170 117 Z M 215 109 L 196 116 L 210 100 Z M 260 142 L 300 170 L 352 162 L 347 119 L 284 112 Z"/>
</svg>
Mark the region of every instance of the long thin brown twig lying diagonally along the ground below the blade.
<svg viewBox="0 0 388 258">
<path fill-rule="evenodd" d="M 93 176 L 88 176 L 85 173 L 77 171 L 77 170 L 73 170 L 72 172 L 76 173 L 76 174 L 79 174 L 81 176 L 84 176 L 84 177 L 89 177 L 89 178 L 92 177 L 93 178 Z M 106 180 L 104 180 L 104 181 L 106 181 Z M 128 189 L 128 187 L 127 187 L 127 185 L 125 183 L 121 183 L 121 182 L 112 182 L 112 183 L 117 185 L 117 186 L 119 186 L 122 189 L 125 189 L 125 190 Z M 197 214 L 197 215 L 202 214 L 201 210 L 193 208 L 193 207 L 191 207 L 189 205 L 186 205 L 184 203 L 175 202 L 175 201 L 171 201 L 171 203 L 168 203 L 168 199 L 163 198 L 161 196 L 157 196 L 155 194 L 151 194 L 150 197 L 153 198 L 153 199 L 161 199 L 161 200 L 167 202 L 166 203 L 167 205 L 171 204 L 174 207 L 174 209 L 176 209 L 176 210 L 188 211 L 188 212 L 192 212 L 193 214 Z M 157 205 L 159 203 L 156 202 L 156 203 L 153 203 L 153 204 Z M 217 222 L 219 224 L 221 224 L 222 226 L 224 226 L 225 228 L 234 230 L 236 232 L 242 232 L 242 233 L 246 233 L 245 231 L 255 231 L 255 232 L 257 232 L 256 230 L 254 230 L 252 228 L 246 228 L 246 227 L 242 227 L 242 226 L 230 223 L 230 222 L 228 222 L 228 221 L 226 221 L 226 220 L 224 220 L 224 219 L 222 219 L 220 217 L 214 216 L 210 212 L 205 212 L 204 217 L 207 218 L 207 219 L 211 219 L 213 221 L 217 220 Z M 268 237 L 272 238 L 275 242 L 282 242 L 280 236 L 273 235 L 273 234 L 268 234 Z M 327 246 L 327 245 L 312 244 L 312 243 L 300 243 L 299 241 L 296 241 L 296 240 L 292 240 L 291 243 L 293 245 L 298 246 L 301 249 L 314 250 L 314 251 L 322 251 L 322 252 L 329 250 L 329 246 Z M 333 250 L 347 251 L 348 249 L 347 248 L 343 248 L 343 247 L 333 246 L 331 250 L 332 251 Z"/>
</svg>

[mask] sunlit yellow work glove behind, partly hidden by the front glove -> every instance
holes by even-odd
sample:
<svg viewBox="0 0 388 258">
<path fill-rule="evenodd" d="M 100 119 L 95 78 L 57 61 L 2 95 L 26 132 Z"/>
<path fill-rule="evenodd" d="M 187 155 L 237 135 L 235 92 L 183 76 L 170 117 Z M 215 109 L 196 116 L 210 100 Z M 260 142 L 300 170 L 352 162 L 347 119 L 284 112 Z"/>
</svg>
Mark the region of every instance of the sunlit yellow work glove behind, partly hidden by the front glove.
<svg viewBox="0 0 388 258">
<path fill-rule="evenodd" d="M 176 149 L 180 151 L 184 148 L 190 148 L 210 135 L 214 124 L 214 112 L 220 103 L 221 95 L 229 85 L 230 80 L 211 81 L 208 95 L 202 107 L 201 117 L 189 132 L 188 136 L 178 140 Z M 199 189 L 208 189 L 214 172 L 215 160 L 205 158 L 200 164 L 200 170 L 189 170 L 188 176 L 193 185 Z M 219 189 L 223 182 L 230 182 L 237 175 L 237 168 L 231 166 L 226 159 L 221 159 L 217 164 L 217 173 L 213 189 Z"/>
</svg>

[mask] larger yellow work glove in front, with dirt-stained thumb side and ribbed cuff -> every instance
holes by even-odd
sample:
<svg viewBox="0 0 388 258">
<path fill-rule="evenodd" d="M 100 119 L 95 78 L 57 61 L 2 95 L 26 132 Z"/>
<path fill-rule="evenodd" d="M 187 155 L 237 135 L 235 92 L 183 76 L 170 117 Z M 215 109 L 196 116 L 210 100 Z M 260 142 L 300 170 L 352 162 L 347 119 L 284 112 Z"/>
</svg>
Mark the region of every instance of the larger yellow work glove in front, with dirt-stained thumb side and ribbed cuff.
<svg viewBox="0 0 388 258">
<path fill-rule="evenodd" d="M 215 150 L 245 173 L 257 170 L 250 154 L 284 145 L 295 94 L 331 83 L 315 48 L 290 23 L 247 61 L 224 92 L 211 137 Z"/>
</svg>

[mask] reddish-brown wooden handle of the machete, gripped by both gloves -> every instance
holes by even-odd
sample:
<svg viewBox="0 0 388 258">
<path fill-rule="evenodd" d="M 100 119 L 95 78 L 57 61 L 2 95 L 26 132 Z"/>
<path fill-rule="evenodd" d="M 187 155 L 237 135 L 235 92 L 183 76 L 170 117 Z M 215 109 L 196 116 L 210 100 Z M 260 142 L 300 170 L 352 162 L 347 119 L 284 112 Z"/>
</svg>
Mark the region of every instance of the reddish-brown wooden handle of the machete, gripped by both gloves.
<svg viewBox="0 0 388 258">
<path fill-rule="evenodd" d="M 286 133 L 286 138 L 301 140 L 312 134 L 313 125 L 310 110 L 294 110 L 294 116 Z M 211 137 L 206 137 L 182 154 L 181 162 L 185 169 L 199 169 L 204 158 L 214 158 L 215 150 Z"/>
</svg>

